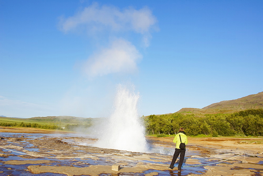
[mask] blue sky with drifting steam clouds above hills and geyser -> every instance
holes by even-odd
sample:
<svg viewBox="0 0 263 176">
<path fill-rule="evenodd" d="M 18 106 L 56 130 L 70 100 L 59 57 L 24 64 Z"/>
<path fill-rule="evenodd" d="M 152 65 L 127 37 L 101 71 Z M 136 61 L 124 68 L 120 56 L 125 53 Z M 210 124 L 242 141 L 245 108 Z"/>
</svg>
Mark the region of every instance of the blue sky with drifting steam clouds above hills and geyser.
<svg viewBox="0 0 263 176">
<path fill-rule="evenodd" d="M 263 91 L 263 1 L 0 0 L 0 115 L 140 115 Z"/>
</svg>

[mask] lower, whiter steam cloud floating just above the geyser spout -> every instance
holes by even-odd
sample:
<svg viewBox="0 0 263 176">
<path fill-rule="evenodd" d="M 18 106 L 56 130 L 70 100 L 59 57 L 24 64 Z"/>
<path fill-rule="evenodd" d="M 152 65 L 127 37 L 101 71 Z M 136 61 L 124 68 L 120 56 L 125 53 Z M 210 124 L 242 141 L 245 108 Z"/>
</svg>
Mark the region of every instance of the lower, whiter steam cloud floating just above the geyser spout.
<svg viewBox="0 0 263 176">
<path fill-rule="evenodd" d="M 103 76 L 109 73 L 130 73 L 137 70 L 137 62 L 142 58 L 136 47 L 130 42 L 119 39 L 109 48 L 102 49 L 91 56 L 84 64 L 84 72 L 89 77 Z"/>
</svg>

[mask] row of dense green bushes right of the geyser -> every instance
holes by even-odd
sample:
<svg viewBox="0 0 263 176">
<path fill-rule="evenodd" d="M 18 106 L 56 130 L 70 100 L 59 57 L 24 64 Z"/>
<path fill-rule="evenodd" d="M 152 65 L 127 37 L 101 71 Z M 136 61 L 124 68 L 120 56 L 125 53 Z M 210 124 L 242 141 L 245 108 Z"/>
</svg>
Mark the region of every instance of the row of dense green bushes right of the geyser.
<svg viewBox="0 0 263 176">
<path fill-rule="evenodd" d="M 174 135 L 180 127 L 186 135 L 198 136 L 263 136 L 263 109 L 244 110 L 232 114 L 166 114 L 144 117 L 147 135 Z M 159 136 L 159 135 L 158 135 Z"/>
</svg>

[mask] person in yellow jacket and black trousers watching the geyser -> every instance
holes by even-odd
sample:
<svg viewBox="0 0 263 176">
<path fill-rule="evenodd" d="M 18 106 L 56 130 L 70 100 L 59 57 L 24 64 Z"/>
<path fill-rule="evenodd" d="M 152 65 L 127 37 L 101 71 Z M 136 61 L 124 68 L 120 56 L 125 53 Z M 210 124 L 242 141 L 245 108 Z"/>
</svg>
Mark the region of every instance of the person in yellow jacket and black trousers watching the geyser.
<svg viewBox="0 0 263 176">
<path fill-rule="evenodd" d="M 180 135 L 180 136 L 179 136 Z M 181 140 L 180 140 L 181 137 Z M 181 171 L 181 167 L 183 165 L 183 161 L 184 161 L 184 155 L 185 155 L 185 148 L 184 149 L 180 149 L 180 141 L 182 141 L 182 143 L 188 144 L 188 140 L 187 140 L 187 136 L 185 135 L 184 129 L 180 128 L 178 131 L 178 134 L 175 135 L 173 142 L 176 143 L 176 147 L 175 147 L 175 152 L 174 152 L 174 156 L 172 159 L 172 162 L 170 164 L 170 167 L 168 167 L 168 169 L 173 169 L 174 168 L 174 163 L 177 159 L 177 157 L 180 154 L 180 161 L 178 164 L 178 171 Z"/>
</svg>

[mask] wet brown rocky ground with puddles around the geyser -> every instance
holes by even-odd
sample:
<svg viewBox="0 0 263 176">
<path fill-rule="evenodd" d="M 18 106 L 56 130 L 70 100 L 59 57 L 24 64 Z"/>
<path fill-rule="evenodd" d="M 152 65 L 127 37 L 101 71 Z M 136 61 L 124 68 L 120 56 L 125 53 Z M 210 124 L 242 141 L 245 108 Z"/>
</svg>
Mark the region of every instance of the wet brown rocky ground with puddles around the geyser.
<svg viewBox="0 0 263 176">
<path fill-rule="evenodd" d="M 79 134 L 2 132 L 1 135 L 0 175 L 263 175 L 263 154 L 258 155 L 261 149 L 252 150 L 251 146 L 244 149 L 222 147 L 200 144 L 201 140 L 190 138 L 189 143 L 193 143 L 187 145 L 180 173 L 178 163 L 174 170 L 167 168 L 174 152 L 170 138 L 147 137 L 152 152 L 137 153 L 92 147 L 96 140 Z M 257 156 L 235 157 L 242 152 Z M 235 158 L 215 163 L 231 157 Z M 114 164 L 120 165 L 119 171 L 112 170 Z"/>
</svg>

